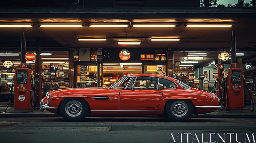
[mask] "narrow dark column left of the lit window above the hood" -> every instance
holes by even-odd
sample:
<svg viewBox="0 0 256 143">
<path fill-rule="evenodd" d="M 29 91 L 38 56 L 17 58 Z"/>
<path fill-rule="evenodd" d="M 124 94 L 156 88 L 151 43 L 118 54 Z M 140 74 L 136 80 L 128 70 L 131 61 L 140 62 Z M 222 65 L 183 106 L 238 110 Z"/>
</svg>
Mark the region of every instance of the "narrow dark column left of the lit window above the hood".
<svg viewBox="0 0 256 143">
<path fill-rule="evenodd" d="M 74 88 L 74 54 L 73 51 L 68 51 L 68 78 L 69 78 L 69 88 Z"/>
</svg>

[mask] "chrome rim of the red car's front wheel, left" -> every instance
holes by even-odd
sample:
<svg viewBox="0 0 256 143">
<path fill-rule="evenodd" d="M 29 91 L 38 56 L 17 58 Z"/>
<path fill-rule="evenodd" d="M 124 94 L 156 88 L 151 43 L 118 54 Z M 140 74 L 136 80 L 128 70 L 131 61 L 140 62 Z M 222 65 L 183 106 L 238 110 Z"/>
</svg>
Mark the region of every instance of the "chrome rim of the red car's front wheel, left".
<svg viewBox="0 0 256 143">
<path fill-rule="evenodd" d="M 70 101 L 66 104 L 65 111 L 70 117 L 77 117 L 82 113 L 82 104 L 78 101 Z"/>
</svg>

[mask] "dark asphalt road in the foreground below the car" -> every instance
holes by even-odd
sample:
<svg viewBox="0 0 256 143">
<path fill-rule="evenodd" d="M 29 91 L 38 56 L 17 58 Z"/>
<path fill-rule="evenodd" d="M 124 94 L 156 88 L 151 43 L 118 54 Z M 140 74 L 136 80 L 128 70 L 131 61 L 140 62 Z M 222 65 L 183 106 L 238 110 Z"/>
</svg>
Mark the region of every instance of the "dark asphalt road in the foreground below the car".
<svg viewBox="0 0 256 143">
<path fill-rule="evenodd" d="M 229 135 L 238 133 L 238 141 L 245 142 L 245 133 L 251 138 L 256 131 L 256 119 L 220 119 L 191 118 L 187 122 L 168 122 L 164 118 L 86 118 L 84 122 L 65 122 L 61 117 L 52 118 L 0 118 L 1 143 L 171 143 L 177 138 L 180 143 L 204 142 L 209 140 L 209 133 L 219 133 L 225 142 Z M 243 134 L 244 133 L 244 137 Z M 193 140 L 195 134 L 198 138 Z M 214 135 L 212 134 L 212 137 Z M 235 134 L 231 142 L 236 142 Z M 196 138 L 194 138 L 196 139 Z M 217 134 L 212 142 L 217 140 Z M 256 135 L 255 135 L 256 141 Z M 246 141 L 248 142 L 248 140 Z M 251 140 L 253 142 L 253 140 Z M 210 143 L 210 142 L 208 142 Z"/>
</svg>

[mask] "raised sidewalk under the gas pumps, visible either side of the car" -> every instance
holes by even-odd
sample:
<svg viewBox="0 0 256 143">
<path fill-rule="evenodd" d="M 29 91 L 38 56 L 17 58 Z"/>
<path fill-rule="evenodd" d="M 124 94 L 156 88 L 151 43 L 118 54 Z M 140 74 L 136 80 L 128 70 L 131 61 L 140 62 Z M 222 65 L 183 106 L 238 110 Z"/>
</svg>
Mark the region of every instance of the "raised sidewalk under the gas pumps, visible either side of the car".
<svg viewBox="0 0 256 143">
<path fill-rule="evenodd" d="M 14 112 L 14 106 L 9 106 L 7 111 L 4 112 L 7 104 L 8 102 L 0 102 L 0 117 L 61 117 L 61 115 L 52 114 L 46 110 L 44 112 L 33 111 L 29 113 L 17 113 Z M 256 108 L 253 112 L 248 111 L 247 108 L 251 108 L 252 110 L 253 106 L 245 106 L 244 112 L 215 111 L 203 115 L 192 115 L 192 118 L 256 118 Z"/>
</svg>

